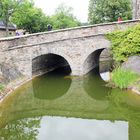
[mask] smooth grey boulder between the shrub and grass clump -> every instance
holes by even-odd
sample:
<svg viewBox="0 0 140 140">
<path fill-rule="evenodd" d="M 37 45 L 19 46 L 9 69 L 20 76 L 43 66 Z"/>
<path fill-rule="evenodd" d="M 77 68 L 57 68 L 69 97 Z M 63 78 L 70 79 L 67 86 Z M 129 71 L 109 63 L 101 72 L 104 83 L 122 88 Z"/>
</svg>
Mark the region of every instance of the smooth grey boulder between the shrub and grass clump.
<svg viewBox="0 0 140 140">
<path fill-rule="evenodd" d="M 140 56 L 131 56 L 122 64 L 123 69 L 132 70 L 140 74 Z"/>
</svg>

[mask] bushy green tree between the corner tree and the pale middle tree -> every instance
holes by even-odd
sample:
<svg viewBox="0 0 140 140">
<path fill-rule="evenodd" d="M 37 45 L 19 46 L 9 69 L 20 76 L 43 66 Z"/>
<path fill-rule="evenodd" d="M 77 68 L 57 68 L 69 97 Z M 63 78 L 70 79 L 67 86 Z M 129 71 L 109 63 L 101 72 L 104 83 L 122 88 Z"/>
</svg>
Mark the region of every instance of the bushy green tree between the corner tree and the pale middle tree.
<svg viewBox="0 0 140 140">
<path fill-rule="evenodd" d="M 36 8 L 33 1 L 25 0 L 11 20 L 18 28 L 25 29 L 29 33 L 36 33 L 47 30 L 49 17 L 41 9 Z"/>
</svg>

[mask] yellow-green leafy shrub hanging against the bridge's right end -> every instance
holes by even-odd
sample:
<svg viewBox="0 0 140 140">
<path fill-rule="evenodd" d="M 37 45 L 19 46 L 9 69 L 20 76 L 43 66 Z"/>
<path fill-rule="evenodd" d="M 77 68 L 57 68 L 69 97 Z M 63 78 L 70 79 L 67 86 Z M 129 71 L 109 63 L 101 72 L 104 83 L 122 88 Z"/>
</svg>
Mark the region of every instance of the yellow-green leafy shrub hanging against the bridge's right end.
<svg viewBox="0 0 140 140">
<path fill-rule="evenodd" d="M 133 55 L 140 55 L 140 24 L 125 31 L 114 31 L 107 34 L 111 41 L 113 57 L 118 62 L 127 60 Z"/>
</svg>

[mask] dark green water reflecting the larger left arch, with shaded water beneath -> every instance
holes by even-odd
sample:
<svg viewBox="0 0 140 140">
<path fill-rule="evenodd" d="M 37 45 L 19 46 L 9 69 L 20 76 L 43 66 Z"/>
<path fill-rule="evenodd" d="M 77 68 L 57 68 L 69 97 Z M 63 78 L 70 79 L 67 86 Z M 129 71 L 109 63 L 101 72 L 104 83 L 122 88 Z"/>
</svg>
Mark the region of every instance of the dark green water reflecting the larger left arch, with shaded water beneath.
<svg viewBox="0 0 140 140">
<path fill-rule="evenodd" d="M 61 67 L 35 78 L 32 81 L 34 96 L 48 100 L 63 96 L 71 85 L 71 79 L 64 78 L 69 74 L 69 70 L 69 67 Z"/>
</svg>

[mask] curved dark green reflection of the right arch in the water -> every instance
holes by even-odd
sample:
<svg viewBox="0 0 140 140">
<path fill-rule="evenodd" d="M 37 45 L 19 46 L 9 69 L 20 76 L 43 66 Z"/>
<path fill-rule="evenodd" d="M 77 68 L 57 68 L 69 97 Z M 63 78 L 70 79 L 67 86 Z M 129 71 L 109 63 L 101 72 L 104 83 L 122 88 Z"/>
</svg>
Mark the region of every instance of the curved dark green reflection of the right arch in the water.
<svg viewBox="0 0 140 140">
<path fill-rule="evenodd" d="M 107 100 L 111 88 L 106 87 L 106 82 L 99 74 L 99 68 L 93 69 L 90 73 L 85 75 L 84 89 L 87 94 L 96 100 Z"/>
</svg>

